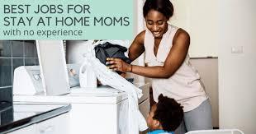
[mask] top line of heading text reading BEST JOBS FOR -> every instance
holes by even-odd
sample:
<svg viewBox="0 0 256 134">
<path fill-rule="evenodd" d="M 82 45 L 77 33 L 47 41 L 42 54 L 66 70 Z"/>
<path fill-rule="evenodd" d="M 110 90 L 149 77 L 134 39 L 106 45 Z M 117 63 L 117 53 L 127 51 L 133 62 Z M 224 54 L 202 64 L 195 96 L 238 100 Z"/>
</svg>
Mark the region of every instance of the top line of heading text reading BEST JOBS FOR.
<svg viewBox="0 0 256 134">
<path fill-rule="evenodd" d="M 34 9 L 34 13 L 64 13 L 66 10 L 67 13 L 91 13 L 89 5 L 37 5 Z M 3 11 L 5 14 L 23 14 L 23 13 L 31 13 L 31 5 L 3 5 Z"/>
</svg>

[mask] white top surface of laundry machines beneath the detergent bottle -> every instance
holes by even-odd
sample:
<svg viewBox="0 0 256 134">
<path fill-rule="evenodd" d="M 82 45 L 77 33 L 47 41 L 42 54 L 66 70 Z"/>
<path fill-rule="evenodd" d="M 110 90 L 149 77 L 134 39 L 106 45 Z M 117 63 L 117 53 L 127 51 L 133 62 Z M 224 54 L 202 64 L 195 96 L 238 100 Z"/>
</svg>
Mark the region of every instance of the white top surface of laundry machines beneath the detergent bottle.
<svg viewBox="0 0 256 134">
<path fill-rule="evenodd" d="M 13 95 L 14 103 L 28 104 L 118 104 L 127 99 L 122 90 L 111 87 L 72 89 L 67 95 Z"/>
</svg>

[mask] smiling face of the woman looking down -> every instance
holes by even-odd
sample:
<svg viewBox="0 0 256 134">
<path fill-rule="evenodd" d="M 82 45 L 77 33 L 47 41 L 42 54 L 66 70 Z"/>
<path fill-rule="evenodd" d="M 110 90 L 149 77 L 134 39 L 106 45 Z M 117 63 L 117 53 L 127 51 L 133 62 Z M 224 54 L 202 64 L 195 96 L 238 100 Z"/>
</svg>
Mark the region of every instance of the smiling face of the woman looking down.
<svg viewBox="0 0 256 134">
<path fill-rule="evenodd" d="M 162 38 L 168 29 L 168 19 L 161 12 L 150 10 L 145 16 L 146 26 L 154 35 L 154 38 Z"/>
</svg>

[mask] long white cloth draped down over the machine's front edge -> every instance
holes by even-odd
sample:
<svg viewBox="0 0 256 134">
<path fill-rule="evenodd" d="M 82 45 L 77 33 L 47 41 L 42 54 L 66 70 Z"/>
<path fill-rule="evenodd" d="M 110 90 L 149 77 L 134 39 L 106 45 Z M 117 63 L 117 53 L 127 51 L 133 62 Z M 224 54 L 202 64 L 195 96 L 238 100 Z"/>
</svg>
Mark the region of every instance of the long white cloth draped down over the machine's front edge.
<svg viewBox="0 0 256 134">
<path fill-rule="evenodd" d="M 128 133 L 135 134 L 139 131 L 145 131 L 147 129 L 147 123 L 138 107 L 138 99 L 142 96 L 142 90 L 132 85 L 129 81 L 126 81 L 125 78 L 119 76 L 116 72 L 111 72 L 111 70 L 107 69 L 99 59 L 93 56 L 93 53 L 86 53 L 85 58 L 103 85 L 109 85 L 115 89 L 126 91 L 129 101 L 129 117 L 127 118 Z"/>
</svg>

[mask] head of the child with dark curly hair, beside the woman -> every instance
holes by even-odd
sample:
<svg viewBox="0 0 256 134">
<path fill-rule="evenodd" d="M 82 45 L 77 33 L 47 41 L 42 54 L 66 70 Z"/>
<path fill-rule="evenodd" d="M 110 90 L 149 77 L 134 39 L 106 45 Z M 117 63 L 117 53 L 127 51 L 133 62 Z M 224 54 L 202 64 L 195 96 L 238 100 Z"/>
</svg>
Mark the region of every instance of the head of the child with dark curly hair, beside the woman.
<svg viewBox="0 0 256 134">
<path fill-rule="evenodd" d="M 183 121 L 183 106 L 174 99 L 159 95 L 159 102 L 149 112 L 147 123 L 151 130 L 174 132 Z"/>
</svg>

